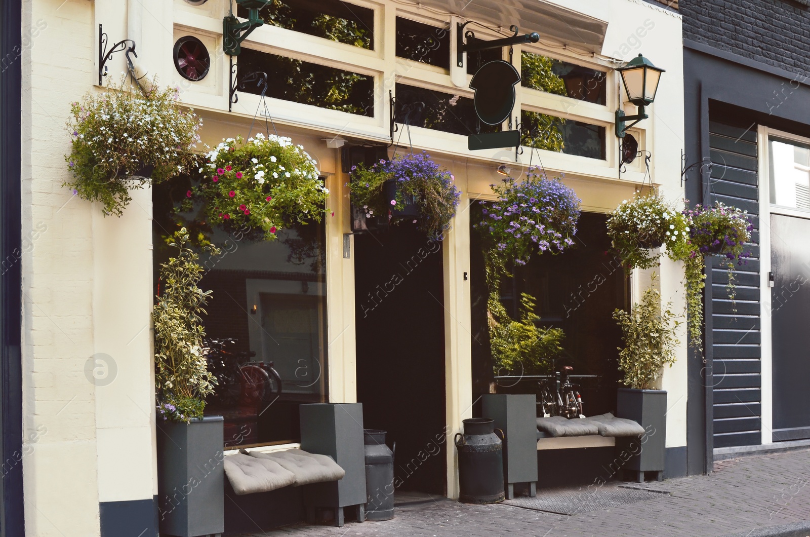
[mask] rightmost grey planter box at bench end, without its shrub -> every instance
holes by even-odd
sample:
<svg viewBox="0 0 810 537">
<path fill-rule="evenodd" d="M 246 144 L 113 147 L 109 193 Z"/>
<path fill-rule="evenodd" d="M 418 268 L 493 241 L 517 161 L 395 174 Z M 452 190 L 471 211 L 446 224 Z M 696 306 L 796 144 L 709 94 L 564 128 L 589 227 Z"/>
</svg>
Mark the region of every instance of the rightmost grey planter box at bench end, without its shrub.
<svg viewBox="0 0 810 537">
<path fill-rule="evenodd" d="M 645 472 L 656 472 L 663 480 L 664 456 L 667 440 L 667 392 L 660 389 L 620 388 L 616 397 L 616 416 L 632 419 L 644 427 L 646 434 L 638 438 L 616 438 L 616 456 L 632 454 L 624 463 L 624 470 L 637 472 L 637 481 L 644 480 Z"/>
</svg>

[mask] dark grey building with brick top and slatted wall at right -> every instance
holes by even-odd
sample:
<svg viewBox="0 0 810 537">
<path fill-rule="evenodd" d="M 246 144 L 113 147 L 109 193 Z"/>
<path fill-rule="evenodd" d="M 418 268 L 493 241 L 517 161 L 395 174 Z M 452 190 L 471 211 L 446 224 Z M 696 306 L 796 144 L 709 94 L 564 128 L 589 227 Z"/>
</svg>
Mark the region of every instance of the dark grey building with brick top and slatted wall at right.
<svg viewBox="0 0 810 537">
<path fill-rule="evenodd" d="M 810 2 L 681 0 L 685 192 L 745 208 L 752 259 L 707 260 L 705 362 L 689 354 L 689 474 L 810 445 Z M 736 312 L 735 312 L 736 310 Z"/>
</svg>

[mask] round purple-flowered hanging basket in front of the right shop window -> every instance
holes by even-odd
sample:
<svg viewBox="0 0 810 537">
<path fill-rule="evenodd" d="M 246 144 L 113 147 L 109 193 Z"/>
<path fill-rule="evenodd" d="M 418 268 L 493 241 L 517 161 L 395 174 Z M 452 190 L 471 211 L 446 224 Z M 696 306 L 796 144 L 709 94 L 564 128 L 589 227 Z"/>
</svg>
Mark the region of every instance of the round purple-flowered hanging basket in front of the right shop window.
<svg viewBox="0 0 810 537">
<path fill-rule="evenodd" d="M 534 253 L 560 253 L 573 245 L 581 200 L 560 179 L 530 167 L 521 183 L 508 177 L 490 186 L 499 199 L 484 208 L 484 220 L 475 226 L 498 256 L 522 265 Z"/>
</svg>

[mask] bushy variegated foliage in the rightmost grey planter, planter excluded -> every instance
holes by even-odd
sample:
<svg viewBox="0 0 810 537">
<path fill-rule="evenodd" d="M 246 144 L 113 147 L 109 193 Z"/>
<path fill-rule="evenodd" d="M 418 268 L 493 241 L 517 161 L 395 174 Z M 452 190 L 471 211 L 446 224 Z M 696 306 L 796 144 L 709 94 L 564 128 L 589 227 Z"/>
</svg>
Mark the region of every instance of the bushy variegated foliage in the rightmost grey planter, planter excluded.
<svg viewBox="0 0 810 537">
<path fill-rule="evenodd" d="M 625 375 L 622 382 L 633 389 L 654 389 L 663 367 L 672 367 L 676 361 L 680 322 L 671 311 L 671 303 L 662 305 L 659 290 L 650 288 L 631 311 L 617 309 L 613 318 L 625 342 L 625 348 L 619 348 L 619 369 Z"/>
</svg>

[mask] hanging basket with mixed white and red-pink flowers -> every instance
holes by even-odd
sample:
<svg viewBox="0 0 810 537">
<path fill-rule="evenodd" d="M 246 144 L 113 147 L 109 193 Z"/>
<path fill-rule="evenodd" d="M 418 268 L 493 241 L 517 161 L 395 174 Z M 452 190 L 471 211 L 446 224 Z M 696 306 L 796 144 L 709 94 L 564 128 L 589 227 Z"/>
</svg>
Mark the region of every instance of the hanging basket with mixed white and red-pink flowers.
<svg viewBox="0 0 810 537">
<path fill-rule="evenodd" d="M 329 191 L 318 166 L 301 145 L 281 136 L 257 134 L 223 140 L 211 153 L 203 180 L 187 192 L 179 209 L 206 201 L 211 224 L 262 230 L 273 240 L 294 223 L 321 221 Z"/>
</svg>

